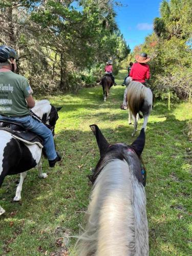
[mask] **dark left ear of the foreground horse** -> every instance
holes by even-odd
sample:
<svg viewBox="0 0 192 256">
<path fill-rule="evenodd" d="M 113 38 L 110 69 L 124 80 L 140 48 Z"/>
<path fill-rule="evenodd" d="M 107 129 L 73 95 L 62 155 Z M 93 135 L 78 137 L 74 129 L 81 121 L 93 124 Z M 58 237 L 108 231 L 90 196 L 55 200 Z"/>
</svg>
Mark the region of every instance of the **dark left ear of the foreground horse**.
<svg viewBox="0 0 192 256">
<path fill-rule="evenodd" d="M 110 144 L 106 141 L 101 131 L 99 130 L 99 127 L 96 124 L 90 125 L 90 128 L 96 137 L 97 145 L 100 151 L 100 156 L 102 156 L 105 154 L 106 149 L 109 147 Z"/>
</svg>

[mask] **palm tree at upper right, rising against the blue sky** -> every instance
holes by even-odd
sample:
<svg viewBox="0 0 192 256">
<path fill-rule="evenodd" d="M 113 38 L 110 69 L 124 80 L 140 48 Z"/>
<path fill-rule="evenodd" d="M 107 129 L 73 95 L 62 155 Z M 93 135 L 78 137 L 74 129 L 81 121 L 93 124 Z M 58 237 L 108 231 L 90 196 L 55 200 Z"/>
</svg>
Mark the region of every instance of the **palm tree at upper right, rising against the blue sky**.
<svg viewBox="0 0 192 256">
<path fill-rule="evenodd" d="M 154 19 L 154 31 L 158 37 L 170 39 L 172 36 L 180 37 L 182 0 L 163 0 L 160 5 L 161 17 Z"/>
</svg>

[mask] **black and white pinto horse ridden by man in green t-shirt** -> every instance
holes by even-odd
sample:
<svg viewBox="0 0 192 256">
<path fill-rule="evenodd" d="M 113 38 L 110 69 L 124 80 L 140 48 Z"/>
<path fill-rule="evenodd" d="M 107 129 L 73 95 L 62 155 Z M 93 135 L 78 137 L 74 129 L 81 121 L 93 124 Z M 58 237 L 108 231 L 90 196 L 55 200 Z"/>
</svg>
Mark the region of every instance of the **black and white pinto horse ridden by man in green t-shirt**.
<svg viewBox="0 0 192 256">
<path fill-rule="evenodd" d="M 54 127 L 58 119 L 57 111 L 61 108 L 55 108 L 48 100 L 37 101 L 32 109 L 39 118 L 42 119 L 48 127 L 52 127 L 54 134 Z M 20 181 L 16 189 L 16 194 L 13 201 L 21 199 L 20 193 L 22 185 L 27 175 L 27 170 L 37 166 L 39 178 L 47 178 L 46 173 L 42 173 L 41 168 L 41 153 L 42 148 L 37 144 L 27 145 L 17 139 L 6 131 L 0 130 L 0 187 L 7 175 L 19 174 Z M 0 206 L 0 215 L 5 210 Z"/>
</svg>

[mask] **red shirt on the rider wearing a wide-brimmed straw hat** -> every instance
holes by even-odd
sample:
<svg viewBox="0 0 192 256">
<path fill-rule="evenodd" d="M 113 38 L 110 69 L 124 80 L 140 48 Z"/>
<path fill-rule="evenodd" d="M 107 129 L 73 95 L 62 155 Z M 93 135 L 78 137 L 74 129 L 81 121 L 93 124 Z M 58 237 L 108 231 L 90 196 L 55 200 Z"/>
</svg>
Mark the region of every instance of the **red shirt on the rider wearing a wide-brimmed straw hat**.
<svg viewBox="0 0 192 256">
<path fill-rule="evenodd" d="M 132 66 L 130 76 L 133 81 L 145 82 L 145 79 L 150 78 L 150 67 L 145 63 L 134 63 Z"/>
</svg>

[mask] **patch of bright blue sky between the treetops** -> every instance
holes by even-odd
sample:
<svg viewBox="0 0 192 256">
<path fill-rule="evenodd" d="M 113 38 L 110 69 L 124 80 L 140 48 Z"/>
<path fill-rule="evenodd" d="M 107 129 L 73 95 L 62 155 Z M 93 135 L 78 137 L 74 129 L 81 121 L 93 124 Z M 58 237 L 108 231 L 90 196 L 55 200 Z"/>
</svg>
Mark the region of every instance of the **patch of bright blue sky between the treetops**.
<svg viewBox="0 0 192 256">
<path fill-rule="evenodd" d="M 124 6 L 116 7 L 116 22 L 131 50 L 142 44 L 153 31 L 153 19 L 159 17 L 162 0 L 121 0 Z"/>
</svg>

